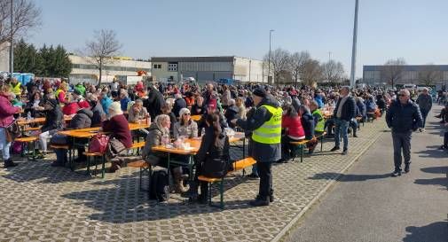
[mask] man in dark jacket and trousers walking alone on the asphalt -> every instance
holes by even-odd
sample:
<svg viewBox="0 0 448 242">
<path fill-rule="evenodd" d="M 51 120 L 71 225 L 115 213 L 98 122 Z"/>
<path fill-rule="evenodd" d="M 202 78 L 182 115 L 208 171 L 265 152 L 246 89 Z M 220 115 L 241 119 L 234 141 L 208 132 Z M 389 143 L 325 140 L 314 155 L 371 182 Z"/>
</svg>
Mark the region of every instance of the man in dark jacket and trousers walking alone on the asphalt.
<svg viewBox="0 0 448 242">
<path fill-rule="evenodd" d="M 411 164 L 411 138 L 413 131 L 423 126 L 420 108 L 410 100 L 409 90 L 400 90 L 398 100 L 389 105 L 386 122 L 392 129 L 394 145 L 395 170 L 392 176 L 401 176 L 401 149 L 405 158 L 405 173 L 409 172 Z"/>
</svg>

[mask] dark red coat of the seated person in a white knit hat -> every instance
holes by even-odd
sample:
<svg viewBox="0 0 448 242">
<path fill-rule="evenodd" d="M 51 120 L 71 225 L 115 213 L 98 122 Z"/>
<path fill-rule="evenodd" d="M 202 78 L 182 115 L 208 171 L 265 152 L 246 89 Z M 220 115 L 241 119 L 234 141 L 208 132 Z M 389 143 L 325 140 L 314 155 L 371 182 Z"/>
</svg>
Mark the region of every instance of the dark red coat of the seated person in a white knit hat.
<svg viewBox="0 0 448 242">
<path fill-rule="evenodd" d="M 103 131 L 111 132 L 126 148 L 132 146 L 130 126 L 123 114 L 115 115 L 109 121 L 103 121 Z"/>
</svg>

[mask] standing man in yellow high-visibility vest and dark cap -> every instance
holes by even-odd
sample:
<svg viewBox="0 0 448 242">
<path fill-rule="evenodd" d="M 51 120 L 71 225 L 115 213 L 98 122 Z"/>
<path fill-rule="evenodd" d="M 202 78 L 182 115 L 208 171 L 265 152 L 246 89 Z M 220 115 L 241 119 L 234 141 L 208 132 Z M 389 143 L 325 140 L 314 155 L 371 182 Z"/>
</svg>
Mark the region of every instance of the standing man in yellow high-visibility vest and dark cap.
<svg viewBox="0 0 448 242">
<path fill-rule="evenodd" d="M 272 162 L 281 159 L 281 115 L 279 102 L 261 88 L 253 92 L 255 113 L 244 120 L 232 120 L 242 129 L 252 132 L 252 153 L 256 160 L 260 185 L 256 199 L 251 206 L 268 206 L 274 200 L 272 189 Z"/>
</svg>

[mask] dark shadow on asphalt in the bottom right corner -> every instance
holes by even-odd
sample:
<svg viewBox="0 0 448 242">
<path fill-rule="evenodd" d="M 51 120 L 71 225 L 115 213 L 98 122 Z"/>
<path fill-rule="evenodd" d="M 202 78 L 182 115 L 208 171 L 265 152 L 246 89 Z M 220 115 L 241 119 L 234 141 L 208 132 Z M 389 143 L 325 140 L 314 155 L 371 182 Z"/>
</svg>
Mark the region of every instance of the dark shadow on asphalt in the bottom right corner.
<svg viewBox="0 0 448 242">
<path fill-rule="evenodd" d="M 433 222 L 426 226 L 406 227 L 403 242 L 446 242 L 448 240 L 448 222 Z"/>
</svg>

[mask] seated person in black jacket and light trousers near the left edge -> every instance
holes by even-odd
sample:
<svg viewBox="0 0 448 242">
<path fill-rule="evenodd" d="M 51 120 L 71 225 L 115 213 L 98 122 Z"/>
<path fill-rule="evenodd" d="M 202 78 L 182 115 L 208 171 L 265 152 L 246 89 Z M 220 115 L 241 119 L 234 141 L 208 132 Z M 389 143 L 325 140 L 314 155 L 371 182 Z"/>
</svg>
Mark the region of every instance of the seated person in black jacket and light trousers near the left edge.
<svg viewBox="0 0 448 242">
<path fill-rule="evenodd" d="M 61 130 L 64 124 L 64 115 L 60 112 L 58 100 L 54 94 L 47 94 L 47 100 L 43 104 L 45 112 L 45 123 L 40 131 L 35 132 L 39 135 L 39 142 L 43 154 L 39 154 L 37 159 L 43 159 L 44 153 L 47 152 L 47 144 L 51 136 Z"/>
</svg>

